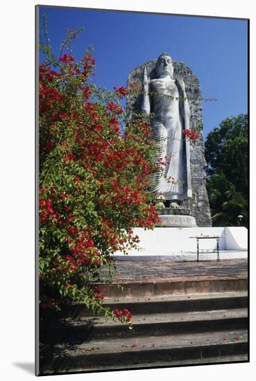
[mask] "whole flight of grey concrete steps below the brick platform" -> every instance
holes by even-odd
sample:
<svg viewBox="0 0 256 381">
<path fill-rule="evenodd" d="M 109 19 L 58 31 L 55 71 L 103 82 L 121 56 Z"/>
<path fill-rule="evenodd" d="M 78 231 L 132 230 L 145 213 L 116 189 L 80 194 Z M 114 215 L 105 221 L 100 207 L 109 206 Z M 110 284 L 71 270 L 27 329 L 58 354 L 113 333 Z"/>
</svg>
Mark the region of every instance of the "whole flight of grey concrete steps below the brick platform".
<svg viewBox="0 0 256 381">
<path fill-rule="evenodd" d="M 130 310 L 133 330 L 93 316 L 83 304 L 41 314 L 40 375 L 248 361 L 246 290 L 140 292 L 112 295 L 104 305 Z"/>
</svg>

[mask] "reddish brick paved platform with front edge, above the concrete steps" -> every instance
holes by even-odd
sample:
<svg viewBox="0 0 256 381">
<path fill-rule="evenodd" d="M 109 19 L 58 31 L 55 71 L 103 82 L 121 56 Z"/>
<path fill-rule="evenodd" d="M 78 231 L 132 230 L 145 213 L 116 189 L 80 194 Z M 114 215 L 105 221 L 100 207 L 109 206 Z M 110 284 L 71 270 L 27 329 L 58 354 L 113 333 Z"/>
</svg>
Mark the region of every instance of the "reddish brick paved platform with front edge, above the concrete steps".
<svg viewBox="0 0 256 381">
<path fill-rule="evenodd" d="M 247 259 L 174 261 L 117 261 L 112 284 L 101 284 L 106 297 L 128 298 L 170 294 L 247 291 Z M 119 290 L 117 285 L 123 285 Z"/>
</svg>

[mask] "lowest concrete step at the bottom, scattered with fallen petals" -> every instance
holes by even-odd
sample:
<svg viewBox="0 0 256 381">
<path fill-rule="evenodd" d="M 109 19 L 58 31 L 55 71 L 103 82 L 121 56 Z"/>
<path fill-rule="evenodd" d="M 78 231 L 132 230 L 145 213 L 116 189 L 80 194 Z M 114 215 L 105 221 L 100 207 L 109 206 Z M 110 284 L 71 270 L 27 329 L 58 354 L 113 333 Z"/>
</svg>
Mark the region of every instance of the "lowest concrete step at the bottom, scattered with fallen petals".
<svg viewBox="0 0 256 381">
<path fill-rule="evenodd" d="M 40 374 L 247 361 L 247 330 L 93 339 L 44 345 Z M 232 360 L 231 360 L 232 361 Z"/>
</svg>

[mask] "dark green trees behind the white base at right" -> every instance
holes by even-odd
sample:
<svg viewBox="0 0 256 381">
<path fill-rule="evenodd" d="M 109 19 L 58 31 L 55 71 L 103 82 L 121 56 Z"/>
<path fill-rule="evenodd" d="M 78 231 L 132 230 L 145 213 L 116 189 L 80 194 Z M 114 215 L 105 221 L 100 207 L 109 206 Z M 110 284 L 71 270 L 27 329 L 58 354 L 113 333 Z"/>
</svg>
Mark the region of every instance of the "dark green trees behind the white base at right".
<svg viewBox="0 0 256 381">
<path fill-rule="evenodd" d="M 248 118 L 224 119 L 205 141 L 207 191 L 214 226 L 248 226 Z"/>
</svg>

